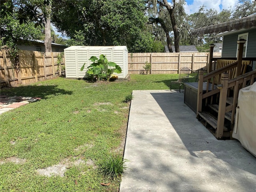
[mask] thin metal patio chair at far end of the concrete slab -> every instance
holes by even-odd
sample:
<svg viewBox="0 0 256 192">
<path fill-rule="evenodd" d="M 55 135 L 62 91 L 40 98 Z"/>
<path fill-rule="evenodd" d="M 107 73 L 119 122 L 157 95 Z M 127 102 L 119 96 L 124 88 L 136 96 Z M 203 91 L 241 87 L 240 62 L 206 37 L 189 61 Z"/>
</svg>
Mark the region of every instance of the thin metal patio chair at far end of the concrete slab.
<svg viewBox="0 0 256 192">
<path fill-rule="evenodd" d="M 182 88 L 182 93 L 184 93 L 184 82 L 188 82 L 190 73 L 191 73 L 190 67 L 181 67 L 179 70 L 178 80 L 175 81 L 171 77 L 170 90 L 172 91 L 172 84 L 178 84 L 180 93 L 181 93 L 181 88 Z"/>
</svg>

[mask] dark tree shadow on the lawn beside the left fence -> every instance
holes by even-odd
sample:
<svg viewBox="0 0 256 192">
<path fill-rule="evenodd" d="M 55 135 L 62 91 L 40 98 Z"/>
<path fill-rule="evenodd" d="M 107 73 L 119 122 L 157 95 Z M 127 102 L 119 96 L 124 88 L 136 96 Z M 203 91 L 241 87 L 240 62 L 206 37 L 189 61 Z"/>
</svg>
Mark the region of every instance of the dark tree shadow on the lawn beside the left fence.
<svg viewBox="0 0 256 192">
<path fill-rule="evenodd" d="M 65 94 L 71 95 L 72 93 L 72 91 L 60 89 L 56 85 L 28 85 L 1 89 L 1 95 L 40 98 L 50 98 L 51 96 Z"/>
</svg>

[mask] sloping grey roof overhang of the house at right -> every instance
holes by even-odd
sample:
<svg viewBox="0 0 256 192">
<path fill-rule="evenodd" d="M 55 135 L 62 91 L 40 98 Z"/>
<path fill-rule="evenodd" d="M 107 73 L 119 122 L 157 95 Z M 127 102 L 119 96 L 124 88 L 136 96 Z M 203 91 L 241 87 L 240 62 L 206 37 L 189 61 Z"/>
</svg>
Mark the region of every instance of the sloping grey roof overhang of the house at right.
<svg viewBox="0 0 256 192">
<path fill-rule="evenodd" d="M 241 19 L 192 30 L 192 35 L 203 35 L 210 33 L 218 34 L 232 30 L 250 29 L 254 27 L 256 27 L 256 13 Z"/>
</svg>

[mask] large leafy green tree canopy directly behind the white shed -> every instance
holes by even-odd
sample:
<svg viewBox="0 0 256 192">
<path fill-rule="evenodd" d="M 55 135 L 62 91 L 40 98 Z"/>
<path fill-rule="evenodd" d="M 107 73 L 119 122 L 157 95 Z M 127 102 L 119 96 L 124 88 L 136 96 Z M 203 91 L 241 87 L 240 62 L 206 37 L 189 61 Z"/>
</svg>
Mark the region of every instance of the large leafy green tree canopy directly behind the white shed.
<svg viewBox="0 0 256 192">
<path fill-rule="evenodd" d="M 129 52 L 151 52 L 154 38 L 146 30 L 144 10 L 144 0 L 58 1 L 52 22 L 70 36 L 69 45 L 125 45 Z"/>
</svg>

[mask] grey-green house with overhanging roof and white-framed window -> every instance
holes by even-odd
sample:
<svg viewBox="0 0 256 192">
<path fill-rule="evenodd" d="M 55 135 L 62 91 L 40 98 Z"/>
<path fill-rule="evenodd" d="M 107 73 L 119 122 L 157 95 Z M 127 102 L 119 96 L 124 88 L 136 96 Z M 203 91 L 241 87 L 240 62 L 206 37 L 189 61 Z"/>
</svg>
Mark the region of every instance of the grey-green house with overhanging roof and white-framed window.
<svg viewBox="0 0 256 192">
<path fill-rule="evenodd" d="M 222 57 L 237 57 L 237 40 L 245 39 L 243 57 L 255 57 L 256 53 L 256 13 L 229 22 L 216 24 L 192 31 L 193 35 L 217 34 L 215 37 L 223 37 Z"/>
</svg>

